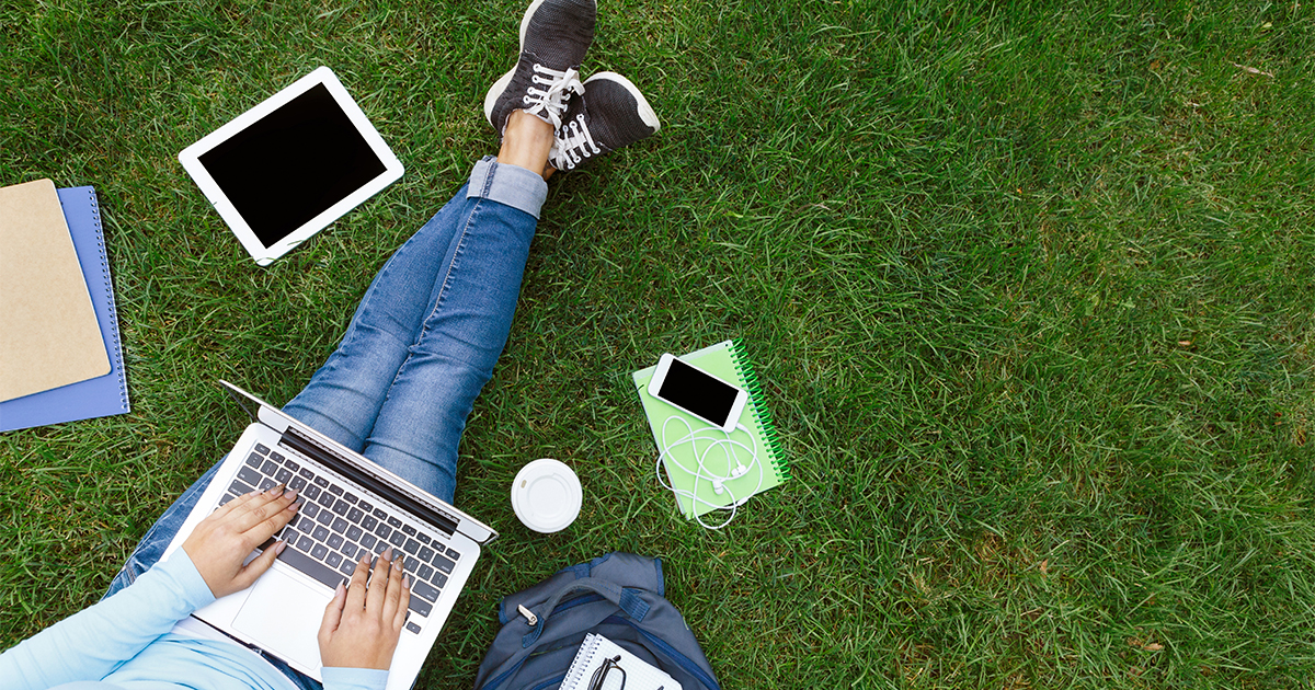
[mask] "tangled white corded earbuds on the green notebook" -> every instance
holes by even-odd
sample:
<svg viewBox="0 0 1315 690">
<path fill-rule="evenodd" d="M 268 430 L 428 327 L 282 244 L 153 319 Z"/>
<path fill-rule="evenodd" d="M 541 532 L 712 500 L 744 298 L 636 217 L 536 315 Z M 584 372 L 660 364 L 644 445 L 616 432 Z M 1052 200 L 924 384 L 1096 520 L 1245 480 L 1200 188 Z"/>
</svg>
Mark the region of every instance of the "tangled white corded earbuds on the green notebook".
<svg viewBox="0 0 1315 690">
<path fill-rule="evenodd" d="M 685 425 L 686 434 L 676 439 L 675 442 L 668 443 L 667 425 L 672 423 L 672 421 Z M 704 528 L 706 530 L 721 530 L 722 527 L 730 524 L 731 520 L 735 519 L 736 509 L 739 509 L 739 506 L 743 506 L 750 499 L 751 495 L 756 494 L 763 488 L 763 480 L 767 476 L 767 473 L 763 471 L 763 463 L 757 457 L 757 439 L 755 439 L 753 435 L 748 432 L 748 428 L 746 428 L 744 425 L 736 423 L 735 431 L 743 431 L 744 435 L 748 436 L 750 443 L 752 443 L 752 446 L 746 446 L 744 443 L 732 439 L 731 434 L 734 434 L 734 431 L 726 432 L 714 426 L 707 426 L 704 428 L 694 430 L 688 421 L 685 421 L 679 415 L 668 417 L 661 426 L 663 447 L 661 452 L 658 453 L 658 463 L 654 468 L 654 472 L 658 474 L 658 481 L 660 481 L 663 486 L 669 489 L 679 498 L 688 498 L 690 502 L 690 510 L 694 513 L 694 519 L 698 520 L 698 524 L 704 526 Z M 704 442 L 707 446 L 701 448 L 700 442 Z M 697 467 L 688 468 L 680 464 L 680 461 L 677 461 L 676 457 L 671 455 L 672 449 L 679 448 L 684 444 L 689 444 L 690 447 L 693 447 L 694 449 L 693 456 Z M 719 474 L 707 468 L 707 460 L 709 460 L 707 455 L 718 448 L 726 457 L 727 469 L 725 474 Z M 748 465 L 746 465 L 744 461 L 740 459 L 739 451 L 744 451 L 748 453 L 750 456 Z M 690 488 L 690 490 L 677 489 L 672 486 L 665 477 L 661 476 L 663 460 L 671 463 L 671 465 L 675 469 L 679 469 L 694 477 L 694 485 Z M 742 498 L 736 497 L 735 492 L 732 492 L 731 488 L 726 485 L 726 482 L 751 474 L 755 468 L 757 469 L 757 485 L 753 488 L 753 490 L 747 492 Z M 672 472 L 672 474 L 676 473 Z M 730 503 L 719 505 L 701 498 L 698 495 L 698 482 L 701 481 L 711 484 L 714 494 L 729 497 Z M 694 510 L 700 505 L 711 506 L 715 510 L 729 510 L 731 514 L 726 518 L 726 520 L 723 520 L 719 524 L 707 524 L 698 515 L 697 510 Z"/>
</svg>

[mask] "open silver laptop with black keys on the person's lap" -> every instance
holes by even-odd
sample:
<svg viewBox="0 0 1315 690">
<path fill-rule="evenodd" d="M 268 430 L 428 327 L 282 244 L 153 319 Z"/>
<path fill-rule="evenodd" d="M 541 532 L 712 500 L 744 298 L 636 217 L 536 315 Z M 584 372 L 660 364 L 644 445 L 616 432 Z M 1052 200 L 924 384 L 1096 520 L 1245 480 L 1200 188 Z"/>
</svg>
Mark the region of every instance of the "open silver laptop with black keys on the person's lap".
<svg viewBox="0 0 1315 690">
<path fill-rule="evenodd" d="M 392 547 L 394 553 L 406 555 L 412 598 L 388 690 L 409 689 L 480 548 L 497 532 L 246 390 L 220 384 L 251 417 L 251 425 L 170 543 L 166 557 L 183 545 L 199 522 L 252 489 L 287 482 L 304 503 L 276 535 L 288 545 L 274 566 L 246 590 L 192 618 L 322 681 L 316 636 L 334 587 L 352 573 L 363 552 L 373 557 Z"/>
</svg>

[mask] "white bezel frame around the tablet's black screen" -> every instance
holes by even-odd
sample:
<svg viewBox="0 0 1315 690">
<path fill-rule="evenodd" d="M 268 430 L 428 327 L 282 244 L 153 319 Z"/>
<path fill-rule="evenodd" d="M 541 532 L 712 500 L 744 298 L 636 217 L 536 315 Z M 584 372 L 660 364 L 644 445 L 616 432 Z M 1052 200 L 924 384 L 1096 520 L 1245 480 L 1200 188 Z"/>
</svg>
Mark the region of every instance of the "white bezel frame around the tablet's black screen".
<svg viewBox="0 0 1315 690">
<path fill-rule="evenodd" d="M 251 230 L 251 226 L 247 225 L 247 221 L 242 217 L 242 214 L 238 213 L 233 202 L 229 201 L 224 189 L 220 188 L 210 173 L 205 170 L 205 166 L 201 164 L 200 158 L 206 151 L 210 151 L 216 146 L 230 139 L 233 135 L 251 126 L 262 117 L 272 113 L 292 99 L 296 99 L 320 84 L 325 85 L 338 106 L 347 114 L 351 124 L 356 126 L 356 131 L 360 133 L 360 137 L 370 146 L 371 151 L 373 151 L 375 156 L 383 162 L 384 171 L 359 187 L 351 195 L 347 195 L 333 206 L 329 206 L 314 218 L 302 223 L 292 233 L 288 233 L 275 244 L 266 247 L 264 243 L 256 238 L 255 231 Z M 196 181 L 196 185 L 201 188 L 201 192 L 205 195 L 206 200 L 210 201 L 210 205 L 214 206 L 214 210 L 220 213 L 220 217 L 224 218 L 224 222 L 227 223 L 229 230 L 237 235 L 238 242 L 242 243 L 242 248 L 245 248 L 259 265 L 270 265 L 275 259 L 301 244 L 316 233 L 329 227 L 347 212 L 359 206 L 367 198 L 375 196 L 402 176 L 401 162 L 397 160 L 396 155 L 393 155 L 392 149 L 384 143 L 383 137 L 380 137 L 379 131 L 375 130 L 375 126 L 370 124 L 366 113 L 359 105 L 356 105 L 356 101 L 352 100 L 351 95 L 347 93 L 347 89 L 343 88 L 341 81 L 338 81 L 338 76 L 334 75 L 333 70 L 329 67 L 316 68 L 306 76 L 293 81 L 289 87 L 233 118 L 220 129 L 206 134 L 199 142 L 179 152 L 178 160 L 183 164 L 183 170 L 192 176 L 192 180 Z"/>
</svg>

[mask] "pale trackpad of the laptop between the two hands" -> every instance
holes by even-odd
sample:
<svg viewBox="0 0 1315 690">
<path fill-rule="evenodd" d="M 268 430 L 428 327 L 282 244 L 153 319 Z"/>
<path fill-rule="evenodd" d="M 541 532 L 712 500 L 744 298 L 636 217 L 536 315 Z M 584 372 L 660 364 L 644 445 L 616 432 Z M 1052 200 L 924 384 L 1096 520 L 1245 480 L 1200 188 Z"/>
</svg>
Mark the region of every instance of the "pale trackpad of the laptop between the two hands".
<svg viewBox="0 0 1315 690">
<path fill-rule="evenodd" d="M 262 649 L 305 668 L 320 668 L 320 622 L 333 598 L 327 587 L 310 587 L 272 568 L 256 581 L 233 619 L 233 628 Z"/>
</svg>

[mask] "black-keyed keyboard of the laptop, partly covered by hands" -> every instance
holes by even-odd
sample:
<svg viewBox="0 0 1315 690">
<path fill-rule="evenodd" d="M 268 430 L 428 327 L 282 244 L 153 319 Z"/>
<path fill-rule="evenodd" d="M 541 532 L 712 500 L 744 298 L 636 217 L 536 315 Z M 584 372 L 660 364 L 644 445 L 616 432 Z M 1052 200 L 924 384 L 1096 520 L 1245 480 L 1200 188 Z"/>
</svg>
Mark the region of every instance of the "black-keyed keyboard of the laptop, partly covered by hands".
<svg viewBox="0 0 1315 690">
<path fill-rule="evenodd" d="M 367 501 L 358 489 L 338 481 L 256 443 L 220 505 L 247 492 L 263 492 L 287 482 L 302 505 L 279 535 L 288 543 L 279 555 L 280 561 L 337 587 L 355 572 L 363 553 L 373 560 L 393 547 L 393 553 L 406 555 L 402 568 L 412 578 L 410 610 L 427 618 L 462 555 L 448 547 L 441 534 L 391 506 Z M 406 630 L 419 632 L 421 628 L 408 622 Z"/>
</svg>

